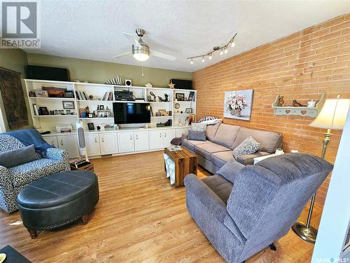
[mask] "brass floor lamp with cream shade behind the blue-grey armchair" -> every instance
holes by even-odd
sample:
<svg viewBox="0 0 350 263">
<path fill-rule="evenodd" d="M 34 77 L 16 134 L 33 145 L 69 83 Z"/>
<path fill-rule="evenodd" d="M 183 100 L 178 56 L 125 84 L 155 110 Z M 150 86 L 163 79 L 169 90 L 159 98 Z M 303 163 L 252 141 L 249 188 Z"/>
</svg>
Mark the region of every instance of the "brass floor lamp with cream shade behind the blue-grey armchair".
<svg viewBox="0 0 350 263">
<path fill-rule="evenodd" d="M 331 130 L 342 130 L 346 121 L 346 115 L 349 110 L 350 100 L 339 99 L 339 95 L 336 99 L 325 100 L 321 112 L 318 114 L 316 119 L 309 126 L 327 129 L 325 137 L 323 138 L 322 155 L 325 159 L 325 151 L 327 150 L 328 144 L 330 144 L 330 137 L 332 136 Z M 309 215 L 307 216 L 307 223 L 295 222 L 293 224 L 293 231 L 297 236 L 308 241 L 315 243 L 317 236 L 317 229 L 310 226 L 312 209 L 314 208 L 315 196 L 311 198 L 311 204 L 309 209 Z"/>
</svg>

